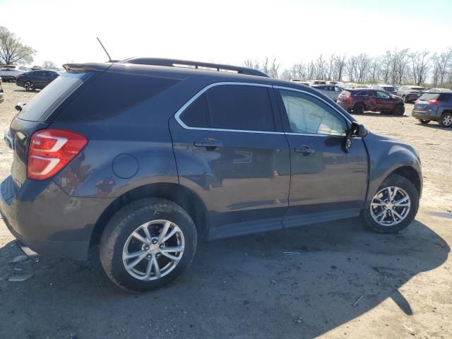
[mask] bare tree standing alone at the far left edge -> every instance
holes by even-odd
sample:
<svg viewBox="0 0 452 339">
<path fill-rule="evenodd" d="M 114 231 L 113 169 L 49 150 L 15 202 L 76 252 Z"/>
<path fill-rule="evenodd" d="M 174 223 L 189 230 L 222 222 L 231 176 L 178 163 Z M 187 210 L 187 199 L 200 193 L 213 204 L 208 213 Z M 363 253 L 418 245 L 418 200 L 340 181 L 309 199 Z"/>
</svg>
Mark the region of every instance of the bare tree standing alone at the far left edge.
<svg viewBox="0 0 452 339">
<path fill-rule="evenodd" d="M 23 44 L 16 34 L 0 26 L 0 61 L 3 64 L 30 64 L 35 53 L 35 49 Z"/>
</svg>

